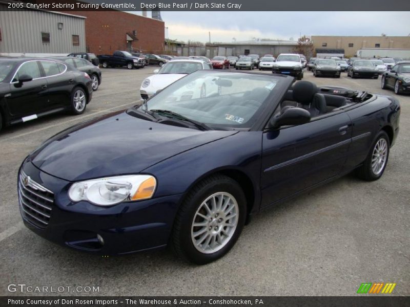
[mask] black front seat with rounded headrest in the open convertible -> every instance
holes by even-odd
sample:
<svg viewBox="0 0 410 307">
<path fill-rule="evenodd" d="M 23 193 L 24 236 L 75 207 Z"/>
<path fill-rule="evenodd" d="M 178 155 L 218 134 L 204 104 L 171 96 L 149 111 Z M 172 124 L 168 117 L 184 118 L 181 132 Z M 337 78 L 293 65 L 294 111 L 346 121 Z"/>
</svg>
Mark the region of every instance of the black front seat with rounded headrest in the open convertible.
<svg viewBox="0 0 410 307">
<path fill-rule="evenodd" d="M 326 113 L 326 99 L 318 93 L 316 84 L 299 81 L 293 85 L 293 100 L 308 110 L 312 117 Z"/>
</svg>

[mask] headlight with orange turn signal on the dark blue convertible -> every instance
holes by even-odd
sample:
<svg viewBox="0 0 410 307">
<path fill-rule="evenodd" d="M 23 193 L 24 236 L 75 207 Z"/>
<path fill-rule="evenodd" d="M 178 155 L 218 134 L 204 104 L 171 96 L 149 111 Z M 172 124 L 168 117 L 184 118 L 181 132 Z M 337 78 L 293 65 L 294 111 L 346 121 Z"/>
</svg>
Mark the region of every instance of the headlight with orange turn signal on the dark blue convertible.
<svg viewBox="0 0 410 307">
<path fill-rule="evenodd" d="M 150 199 L 156 180 L 150 175 L 117 176 L 74 183 L 68 190 L 71 201 L 88 201 L 98 206 L 112 206 L 123 201 Z"/>
</svg>

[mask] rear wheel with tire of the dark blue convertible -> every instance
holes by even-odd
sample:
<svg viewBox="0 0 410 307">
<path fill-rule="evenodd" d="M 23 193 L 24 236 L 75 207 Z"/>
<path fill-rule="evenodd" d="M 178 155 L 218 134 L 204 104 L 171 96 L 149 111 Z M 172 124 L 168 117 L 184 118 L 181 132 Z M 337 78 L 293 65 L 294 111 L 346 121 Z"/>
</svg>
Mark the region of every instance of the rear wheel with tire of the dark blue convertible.
<svg viewBox="0 0 410 307">
<path fill-rule="evenodd" d="M 378 180 L 383 175 L 384 169 L 387 165 L 389 146 L 390 145 L 388 136 L 383 130 L 381 130 L 377 134 L 375 141 L 372 143 L 371 149 L 367 155 L 366 160 L 364 160 L 363 164 L 356 169 L 357 177 L 365 181 Z M 380 150 L 383 150 L 380 151 L 378 148 Z M 381 156 L 380 152 L 382 152 Z M 373 159 L 377 160 L 375 160 L 375 164 L 372 165 Z M 378 162 L 381 162 L 381 164 L 379 164 Z"/>
</svg>

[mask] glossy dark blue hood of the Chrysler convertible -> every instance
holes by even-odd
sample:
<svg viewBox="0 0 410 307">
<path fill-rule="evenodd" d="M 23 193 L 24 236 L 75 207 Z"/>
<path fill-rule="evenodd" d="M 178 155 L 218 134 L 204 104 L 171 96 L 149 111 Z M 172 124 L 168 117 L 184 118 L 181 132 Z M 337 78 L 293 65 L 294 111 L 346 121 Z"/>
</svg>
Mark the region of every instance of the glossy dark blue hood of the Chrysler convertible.
<svg viewBox="0 0 410 307">
<path fill-rule="evenodd" d="M 124 111 L 78 124 L 30 154 L 40 170 L 68 181 L 132 174 L 237 131 L 201 131 L 138 119 Z"/>
</svg>

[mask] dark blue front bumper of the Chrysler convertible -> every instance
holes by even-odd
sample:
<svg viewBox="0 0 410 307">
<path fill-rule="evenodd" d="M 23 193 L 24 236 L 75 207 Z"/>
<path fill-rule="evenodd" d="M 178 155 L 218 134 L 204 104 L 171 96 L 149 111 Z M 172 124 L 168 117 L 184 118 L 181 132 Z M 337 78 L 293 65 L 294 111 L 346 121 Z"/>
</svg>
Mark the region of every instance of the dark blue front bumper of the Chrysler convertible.
<svg viewBox="0 0 410 307">
<path fill-rule="evenodd" d="M 183 194 L 111 207 L 99 207 L 88 202 L 73 204 L 67 195 L 70 182 L 40 171 L 27 159 L 20 169 L 54 193 L 48 225 L 43 228 L 27 218 L 19 201 L 24 224 L 39 236 L 62 246 L 104 255 L 167 245 Z"/>
</svg>

